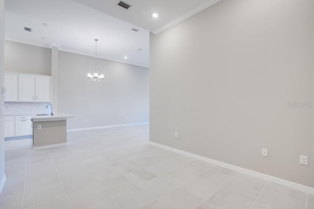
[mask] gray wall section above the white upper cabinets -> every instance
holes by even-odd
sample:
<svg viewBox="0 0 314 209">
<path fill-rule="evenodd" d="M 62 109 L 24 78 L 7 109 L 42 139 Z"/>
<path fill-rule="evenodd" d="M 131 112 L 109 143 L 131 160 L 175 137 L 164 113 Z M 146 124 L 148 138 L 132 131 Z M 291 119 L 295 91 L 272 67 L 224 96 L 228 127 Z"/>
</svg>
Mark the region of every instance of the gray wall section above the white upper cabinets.
<svg viewBox="0 0 314 209">
<path fill-rule="evenodd" d="M 5 71 L 51 76 L 51 49 L 6 40 L 4 50 Z"/>
</svg>

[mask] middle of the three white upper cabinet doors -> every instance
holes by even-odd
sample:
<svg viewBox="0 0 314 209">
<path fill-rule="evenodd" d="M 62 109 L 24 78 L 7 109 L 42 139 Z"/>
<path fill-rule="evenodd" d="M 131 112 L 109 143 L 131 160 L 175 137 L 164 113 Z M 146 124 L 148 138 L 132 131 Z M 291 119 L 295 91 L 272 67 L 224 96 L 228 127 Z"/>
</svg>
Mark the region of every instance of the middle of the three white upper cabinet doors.
<svg viewBox="0 0 314 209">
<path fill-rule="evenodd" d="M 35 91 L 35 77 L 19 75 L 19 101 L 33 102 Z"/>
</svg>

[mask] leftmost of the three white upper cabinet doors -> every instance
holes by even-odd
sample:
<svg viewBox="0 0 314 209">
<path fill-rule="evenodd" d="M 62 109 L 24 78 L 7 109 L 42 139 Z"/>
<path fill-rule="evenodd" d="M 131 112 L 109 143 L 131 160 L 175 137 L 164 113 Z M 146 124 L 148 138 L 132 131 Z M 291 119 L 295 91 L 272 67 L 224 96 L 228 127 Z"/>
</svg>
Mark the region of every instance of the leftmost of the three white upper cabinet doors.
<svg viewBox="0 0 314 209">
<path fill-rule="evenodd" d="M 18 101 L 18 75 L 17 74 L 4 74 L 4 86 L 6 88 L 4 94 L 4 102 L 17 102 Z"/>
</svg>

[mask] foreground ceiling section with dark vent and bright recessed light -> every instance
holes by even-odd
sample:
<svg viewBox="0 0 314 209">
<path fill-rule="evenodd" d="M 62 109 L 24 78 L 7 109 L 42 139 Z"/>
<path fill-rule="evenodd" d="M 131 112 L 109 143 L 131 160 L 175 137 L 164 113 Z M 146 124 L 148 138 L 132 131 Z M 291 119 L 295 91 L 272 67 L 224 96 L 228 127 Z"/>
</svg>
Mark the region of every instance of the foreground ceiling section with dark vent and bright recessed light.
<svg viewBox="0 0 314 209">
<path fill-rule="evenodd" d="M 117 5 L 120 0 L 75 1 L 157 34 L 220 0 L 123 0 L 128 10 Z"/>
</svg>

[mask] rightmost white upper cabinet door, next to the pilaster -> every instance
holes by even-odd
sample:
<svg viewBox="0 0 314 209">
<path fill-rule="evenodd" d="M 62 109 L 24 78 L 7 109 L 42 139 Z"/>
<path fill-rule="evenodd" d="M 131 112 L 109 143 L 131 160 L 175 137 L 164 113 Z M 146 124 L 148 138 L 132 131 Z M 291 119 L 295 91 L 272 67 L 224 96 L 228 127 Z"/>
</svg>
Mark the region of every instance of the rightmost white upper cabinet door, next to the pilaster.
<svg viewBox="0 0 314 209">
<path fill-rule="evenodd" d="M 50 78 L 36 76 L 36 102 L 50 102 Z"/>
</svg>

